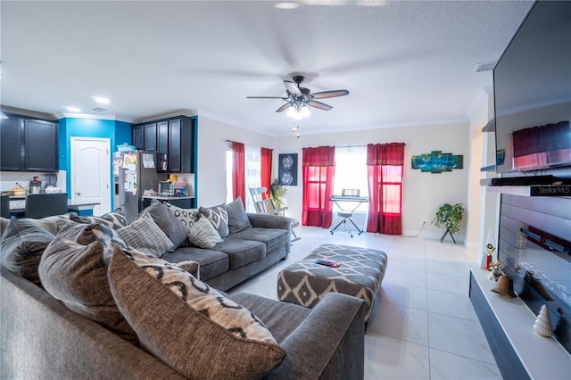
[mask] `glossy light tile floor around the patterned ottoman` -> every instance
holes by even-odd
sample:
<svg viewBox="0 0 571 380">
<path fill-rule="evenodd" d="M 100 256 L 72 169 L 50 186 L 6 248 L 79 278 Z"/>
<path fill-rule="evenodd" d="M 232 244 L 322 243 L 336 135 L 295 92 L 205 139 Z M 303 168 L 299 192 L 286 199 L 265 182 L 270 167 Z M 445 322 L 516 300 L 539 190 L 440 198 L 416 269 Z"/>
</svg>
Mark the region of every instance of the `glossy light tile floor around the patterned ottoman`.
<svg viewBox="0 0 571 380">
<path fill-rule="evenodd" d="M 365 378 L 501 379 L 468 298 L 476 253 L 450 239 L 353 234 L 296 228 L 288 260 L 231 289 L 277 298 L 277 273 L 319 244 L 384 251 L 388 266 L 365 335 Z"/>
</svg>

